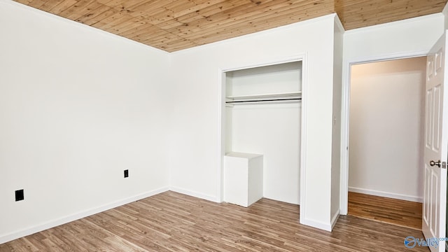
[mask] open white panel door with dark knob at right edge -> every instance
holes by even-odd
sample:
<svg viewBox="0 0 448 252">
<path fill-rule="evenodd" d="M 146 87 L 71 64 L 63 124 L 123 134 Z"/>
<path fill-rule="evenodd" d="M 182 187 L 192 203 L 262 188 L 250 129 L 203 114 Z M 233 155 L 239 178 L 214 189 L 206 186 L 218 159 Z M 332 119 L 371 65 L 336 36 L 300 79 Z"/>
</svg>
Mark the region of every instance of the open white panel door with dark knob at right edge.
<svg viewBox="0 0 448 252">
<path fill-rule="evenodd" d="M 445 33 L 430 50 L 426 68 L 423 235 L 445 237 L 448 155 L 448 88 L 444 88 L 447 48 Z M 431 251 L 445 251 L 444 241 Z"/>
</svg>

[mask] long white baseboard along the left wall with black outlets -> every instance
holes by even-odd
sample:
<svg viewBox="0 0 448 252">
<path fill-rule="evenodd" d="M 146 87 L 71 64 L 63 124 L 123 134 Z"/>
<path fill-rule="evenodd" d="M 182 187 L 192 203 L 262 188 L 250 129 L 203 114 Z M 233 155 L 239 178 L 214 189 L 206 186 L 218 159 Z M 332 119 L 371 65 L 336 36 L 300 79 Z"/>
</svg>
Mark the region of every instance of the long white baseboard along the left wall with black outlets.
<svg viewBox="0 0 448 252">
<path fill-rule="evenodd" d="M 65 216 L 63 218 L 58 218 L 58 219 L 55 219 L 55 220 L 52 220 L 52 221 L 48 221 L 47 223 L 43 223 L 41 225 L 36 225 L 34 227 L 31 227 L 31 228 L 26 228 L 24 230 L 19 230 L 19 231 L 16 231 L 16 232 L 10 232 L 9 234 L 0 236 L 0 244 L 3 244 L 3 243 L 8 242 L 8 241 L 12 241 L 14 239 L 18 239 L 20 237 L 25 237 L 27 235 L 32 235 L 32 234 L 34 234 L 36 232 L 41 232 L 43 230 L 48 230 L 49 228 L 54 228 L 54 227 L 56 227 L 58 225 L 69 223 L 71 221 L 76 221 L 76 220 L 78 220 L 80 218 L 85 218 L 85 217 L 91 216 L 93 214 L 98 214 L 98 213 L 101 213 L 102 211 L 113 209 L 115 207 L 120 207 L 120 206 L 123 206 L 124 204 L 129 204 L 131 202 L 135 202 L 137 200 L 144 199 L 146 197 L 151 197 L 153 195 L 158 195 L 159 193 L 164 193 L 164 192 L 166 192 L 168 190 L 169 190 L 169 188 L 159 188 L 157 190 L 152 190 L 152 191 L 147 192 L 147 193 L 141 193 L 139 195 L 135 195 L 133 197 L 129 197 L 129 198 L 125 199 L 125 200 L 118 200 L 116 202 L 112 202 L 111 204 L 105 204 L 105 205 L 103 205 L 101 207 L 95 207 L 95 208 L 89 209 L 87 211 L 81 211 L 81 212 L 79 212 L 77 214 L 73 214 L 73 215 L 70 215 L 70 216 Z"/>
</svg>

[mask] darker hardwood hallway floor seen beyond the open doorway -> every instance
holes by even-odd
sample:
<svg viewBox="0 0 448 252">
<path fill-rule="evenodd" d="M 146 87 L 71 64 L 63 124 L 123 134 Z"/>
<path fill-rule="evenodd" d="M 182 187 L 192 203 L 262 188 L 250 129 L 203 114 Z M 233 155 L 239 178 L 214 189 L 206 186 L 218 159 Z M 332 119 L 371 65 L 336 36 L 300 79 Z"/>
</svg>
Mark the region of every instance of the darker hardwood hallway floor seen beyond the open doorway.
<svg viewBox="0 0 448 252">
<path fill-rule="evenodd" d="M 349 192 L 349 215 L 421 230 L 421 203 Z"/>
</svg>

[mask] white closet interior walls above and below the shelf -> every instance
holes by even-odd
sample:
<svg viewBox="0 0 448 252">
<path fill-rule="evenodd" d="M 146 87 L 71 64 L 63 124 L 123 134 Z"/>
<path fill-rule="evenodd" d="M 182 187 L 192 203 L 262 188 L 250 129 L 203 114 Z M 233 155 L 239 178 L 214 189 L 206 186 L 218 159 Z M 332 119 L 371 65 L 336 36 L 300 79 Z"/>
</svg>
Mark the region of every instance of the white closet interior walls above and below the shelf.
<svg viewBox="0 0 448 252">
<path fill-rule="evenodd" d="M 299 92 L 302 62 L 226 73 L 227 96 Z M 237 104 L 225 130 L 226 150 L 263 155 L 263 197 L 299 204 L 300 103 Z"/>
</svg>

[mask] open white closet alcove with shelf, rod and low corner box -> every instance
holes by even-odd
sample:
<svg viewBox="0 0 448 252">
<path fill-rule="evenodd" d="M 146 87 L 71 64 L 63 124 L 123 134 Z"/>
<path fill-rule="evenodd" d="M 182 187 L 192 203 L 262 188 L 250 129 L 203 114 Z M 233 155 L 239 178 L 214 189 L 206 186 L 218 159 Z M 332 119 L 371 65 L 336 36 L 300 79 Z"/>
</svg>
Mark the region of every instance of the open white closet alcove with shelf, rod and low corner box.
<svg viewBox="0 0 448 252">
<path fill-rule="evenodd" d="M 301 84 L 300 61 L 225 72 L 225 202 L 300 203 Z"/>
</svg>

